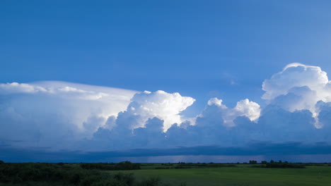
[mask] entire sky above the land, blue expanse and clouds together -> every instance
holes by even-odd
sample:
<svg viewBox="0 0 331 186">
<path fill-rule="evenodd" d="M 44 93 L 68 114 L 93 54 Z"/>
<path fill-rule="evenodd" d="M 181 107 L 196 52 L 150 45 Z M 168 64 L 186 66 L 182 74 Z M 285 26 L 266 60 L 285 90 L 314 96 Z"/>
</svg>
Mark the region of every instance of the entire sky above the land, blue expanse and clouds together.
<svg viewBox="0 0 331 186">
<path fill-rule="evenodd" d="M 135 149 L 293 155 L 286 144 L 298 155 L 331 154 L 330 8 L 1 1 L 0 159 L 27 149 L 44 154 L 24 156 L 33 161 Z"/>
</svg>

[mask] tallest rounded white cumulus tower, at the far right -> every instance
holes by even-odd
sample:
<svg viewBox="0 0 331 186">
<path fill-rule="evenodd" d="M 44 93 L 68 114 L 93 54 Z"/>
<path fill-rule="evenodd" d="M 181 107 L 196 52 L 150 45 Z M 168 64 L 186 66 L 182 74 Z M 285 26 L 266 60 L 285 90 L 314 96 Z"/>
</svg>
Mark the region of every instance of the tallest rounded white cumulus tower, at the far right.
<svg viewBox="0 0 331 186">
<path fill-rule="evenodd" d="M 265 90 L 262 99 L 266 99 L 269 104 L 291 112 L 309 110 L 316 119 L 315 127 L 321 127 L 315 104 L 318 101 L 331 101 L 331 89 L 327 73 L 320 67 L 291 63 L 265 80 L 262 89 Z"/>
</svg>

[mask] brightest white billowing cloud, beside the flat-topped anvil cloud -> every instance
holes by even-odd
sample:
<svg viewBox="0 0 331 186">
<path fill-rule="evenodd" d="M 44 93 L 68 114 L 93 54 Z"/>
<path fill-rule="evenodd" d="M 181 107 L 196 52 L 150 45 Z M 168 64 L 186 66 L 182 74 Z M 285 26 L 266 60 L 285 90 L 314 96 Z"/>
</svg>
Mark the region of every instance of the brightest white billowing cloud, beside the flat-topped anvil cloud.
<svg viewBox="0 0 331 186">
<path fill-rule="evenodd" d="M 149 118 L 164 120 L 164 130 L 173 123 L 182 123 L 179 113 L 194 103 L 192 97 L 182 97 L 178 92 L 173 94 L 158 90 L 156 92 L 141 92 L 134 94 L 127 114 L 140 116 L 140 120 L 132 128 L 144 126 Z"/>
</svg>

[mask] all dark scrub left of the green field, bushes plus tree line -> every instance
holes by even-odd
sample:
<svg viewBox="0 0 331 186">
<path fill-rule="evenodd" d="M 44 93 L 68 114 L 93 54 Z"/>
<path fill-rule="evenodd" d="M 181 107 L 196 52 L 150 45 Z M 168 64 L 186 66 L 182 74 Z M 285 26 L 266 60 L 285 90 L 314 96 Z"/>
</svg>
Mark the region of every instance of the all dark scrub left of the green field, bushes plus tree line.
<svg viewBox="0 0 331 186">
<path fill-rule="evenodd" d="M 165 186 L 160 178 L 136 180 L 133 173 L 104 171 L 137 170 L 139 164 L 120 163 L 1 163 L 0 185 Z M 102 171 L 100 171 L 102 170 Z"/>
</svg>

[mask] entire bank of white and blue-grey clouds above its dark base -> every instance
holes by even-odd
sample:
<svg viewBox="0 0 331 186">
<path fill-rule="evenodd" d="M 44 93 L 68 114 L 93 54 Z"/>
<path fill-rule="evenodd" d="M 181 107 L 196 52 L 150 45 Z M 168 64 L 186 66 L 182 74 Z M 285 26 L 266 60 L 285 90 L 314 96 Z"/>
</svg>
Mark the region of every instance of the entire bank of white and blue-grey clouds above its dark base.
<svg viewBox="0 0 331 186">
<path fill-rule="evenodd" d="M 317 66 L 292 63 L 262 83 L 265 108 L 210 99 L 194 118 L 195 99 L 69 82 L 0 84 L 0 142 L 13 147 L 81 151 L 251 142 L 331 142 L 331 83 Z"/>
</svg>

